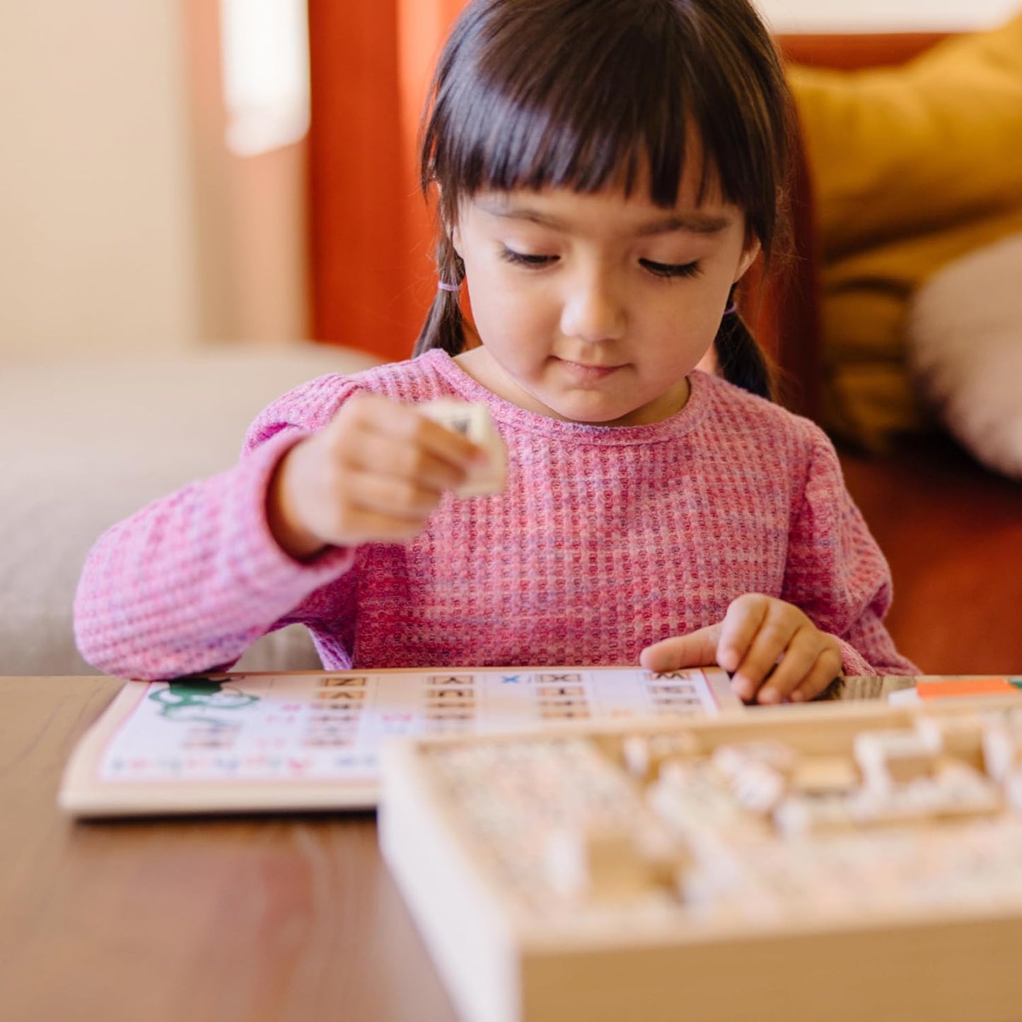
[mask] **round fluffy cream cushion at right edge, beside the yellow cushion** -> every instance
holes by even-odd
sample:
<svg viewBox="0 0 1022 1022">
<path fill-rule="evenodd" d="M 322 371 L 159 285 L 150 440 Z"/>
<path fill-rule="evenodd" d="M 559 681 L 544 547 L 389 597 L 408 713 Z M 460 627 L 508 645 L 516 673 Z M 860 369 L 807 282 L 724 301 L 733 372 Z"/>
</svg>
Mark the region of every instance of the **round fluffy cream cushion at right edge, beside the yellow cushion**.
<svg viewBox="0 0 1022 1022">
<path fill-rule="evenodd" d="M 1022 480 L 1022 234 L 944 267 L 913 299 L 925 400 L 984 465 Z"/>
</svg>

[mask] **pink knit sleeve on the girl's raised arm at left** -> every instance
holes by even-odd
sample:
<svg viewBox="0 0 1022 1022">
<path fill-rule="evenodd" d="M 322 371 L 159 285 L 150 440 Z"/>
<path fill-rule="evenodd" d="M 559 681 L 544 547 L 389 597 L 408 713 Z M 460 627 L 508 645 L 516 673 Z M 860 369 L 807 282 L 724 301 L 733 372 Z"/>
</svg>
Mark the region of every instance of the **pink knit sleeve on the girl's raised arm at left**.
<svg viewBox="0 0 1022 1022">
<path fill-rule="evenodd" d="M 256 420 L 233 468 L 99 538 L 75 598 L 76 641 L 90 663 L 146 680 L 223 669 L 260 636 L 306 619 L 303 602 L 346 571 L 355 553 L 290 558 L 270 531 L 267 490 L 284 454 L 329 421 L 352 389 L 334 378 L 332 387 L 314 381 L 291 391 Z"/>
</svg>

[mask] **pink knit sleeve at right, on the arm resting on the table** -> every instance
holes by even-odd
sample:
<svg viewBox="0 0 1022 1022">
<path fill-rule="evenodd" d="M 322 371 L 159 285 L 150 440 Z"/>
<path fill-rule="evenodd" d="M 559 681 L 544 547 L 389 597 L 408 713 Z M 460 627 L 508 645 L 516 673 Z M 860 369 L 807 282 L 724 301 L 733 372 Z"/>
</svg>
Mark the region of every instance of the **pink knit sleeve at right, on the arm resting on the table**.
<svg viewBox="0 0 1022 1022">
<path fill-rule="evenodd" d="M 887 561 L 844 486 L 833 446 L 815 428 L 781 596 L 838 640 L 844 673 L 919 672 L 883 623 L 891 602 Z"/>
</svg>

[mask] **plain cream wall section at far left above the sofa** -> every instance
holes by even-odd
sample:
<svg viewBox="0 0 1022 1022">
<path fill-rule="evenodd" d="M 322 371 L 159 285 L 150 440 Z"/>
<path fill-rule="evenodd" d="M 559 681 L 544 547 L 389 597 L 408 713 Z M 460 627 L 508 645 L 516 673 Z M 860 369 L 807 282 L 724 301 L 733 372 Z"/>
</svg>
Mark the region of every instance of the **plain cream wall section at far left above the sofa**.
<svg viewBox="0 0 1022 1022">
<path fill-rule="evenodd" d="M 197 335 L 174 0 L 0 3 L 0 355 Z"/>
</svg>

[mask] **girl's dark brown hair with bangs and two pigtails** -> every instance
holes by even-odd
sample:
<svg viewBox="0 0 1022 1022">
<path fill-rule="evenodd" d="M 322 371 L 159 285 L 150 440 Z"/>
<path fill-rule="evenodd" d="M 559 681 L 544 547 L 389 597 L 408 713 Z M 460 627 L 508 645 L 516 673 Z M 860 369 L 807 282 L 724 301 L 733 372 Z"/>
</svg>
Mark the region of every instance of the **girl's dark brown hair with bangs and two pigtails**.
<svg viewBox="0 0 1022 1022">
<path fill-rule="evenodd" d="M 472 0 L 440 55 L 423 121 L 421 185 L 440 187 L 436 267 L 460 283 L 449 233 L 482 190 L 597 192 L 640 175 L 678 201 L 691 129 L 698 200 L 716 186 L 764 256 L 787 245 L 792 105 L 747 0 Z M 415 345 L 465 347 L 458 295 L 439 290 Z M 737 314 L 714 339 L 726 379 L 771 397 L 771 372 Z"/>
</svg>

